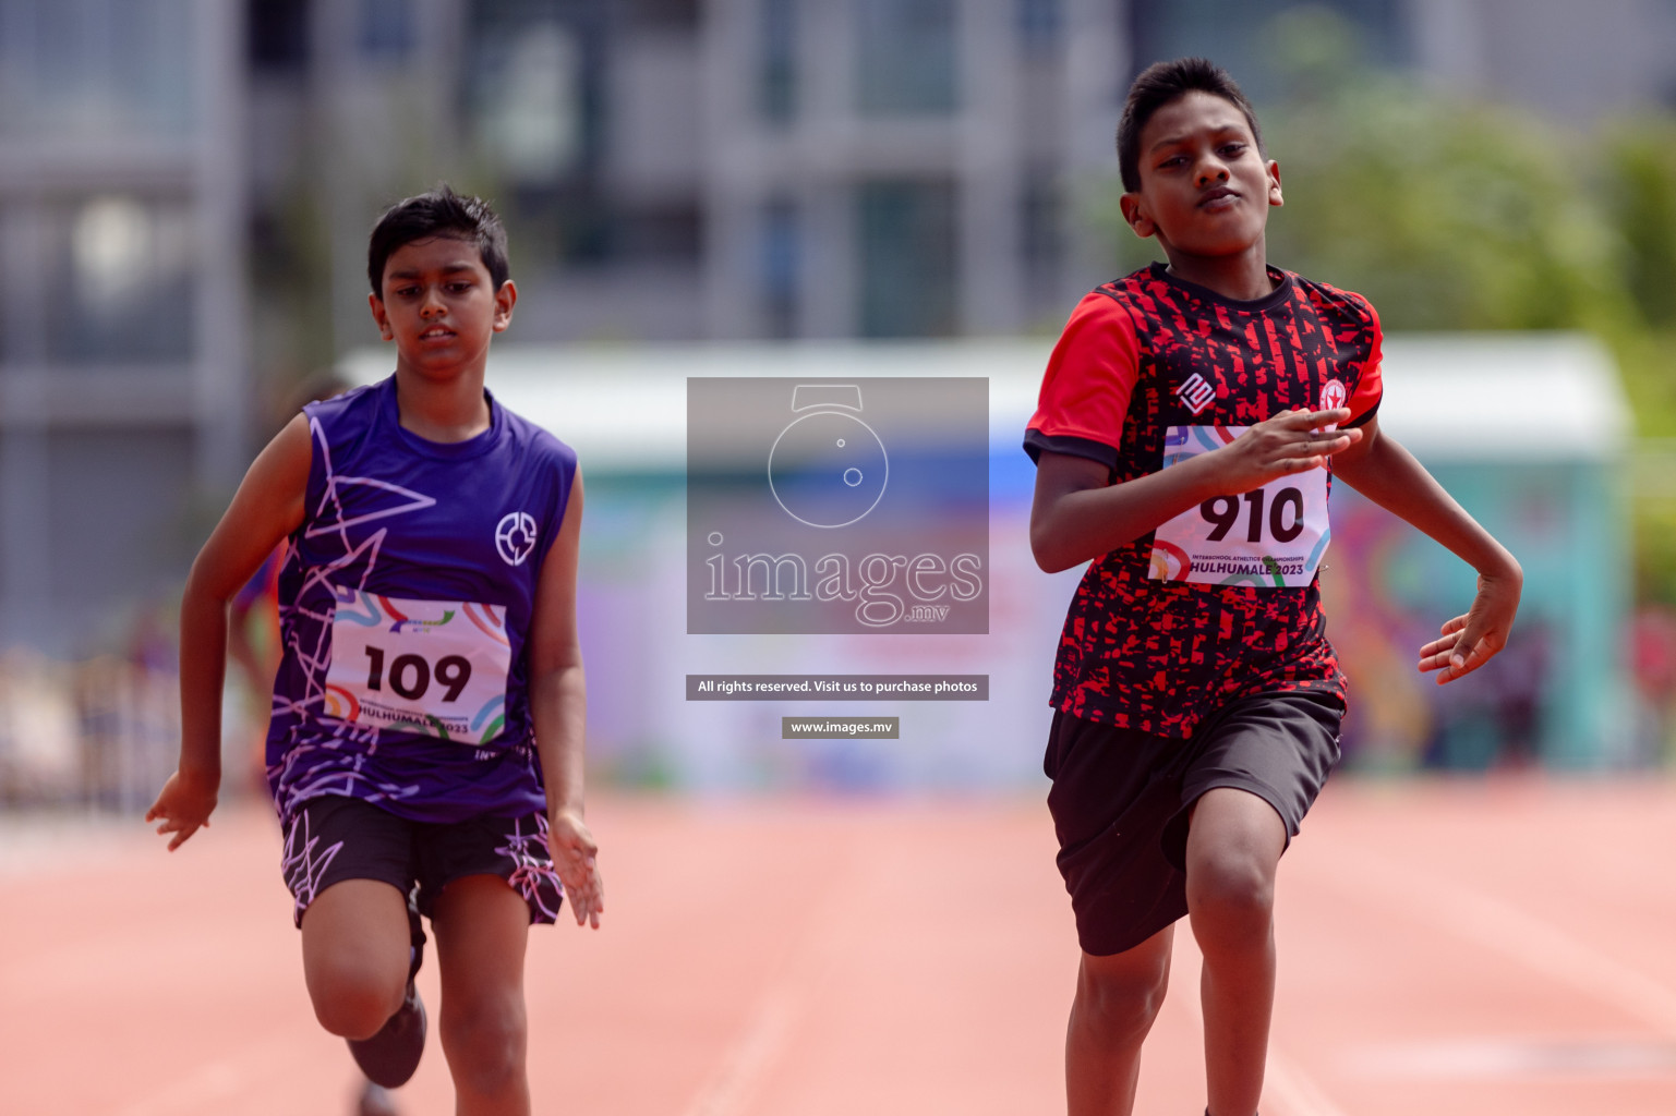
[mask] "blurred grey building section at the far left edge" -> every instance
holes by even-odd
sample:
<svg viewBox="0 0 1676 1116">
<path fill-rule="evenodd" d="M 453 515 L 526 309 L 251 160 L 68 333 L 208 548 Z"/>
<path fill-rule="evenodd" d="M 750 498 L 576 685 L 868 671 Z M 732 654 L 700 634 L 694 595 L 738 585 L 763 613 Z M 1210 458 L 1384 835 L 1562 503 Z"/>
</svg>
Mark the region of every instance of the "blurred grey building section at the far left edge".
<svg viewBox="0 0 1676 1116">
<path fill-rule="evenodd" d="M 122 640 L 245 464 L 241 57 L 221 0 L 0 0 L 0 647 Z"/>
</svg>

